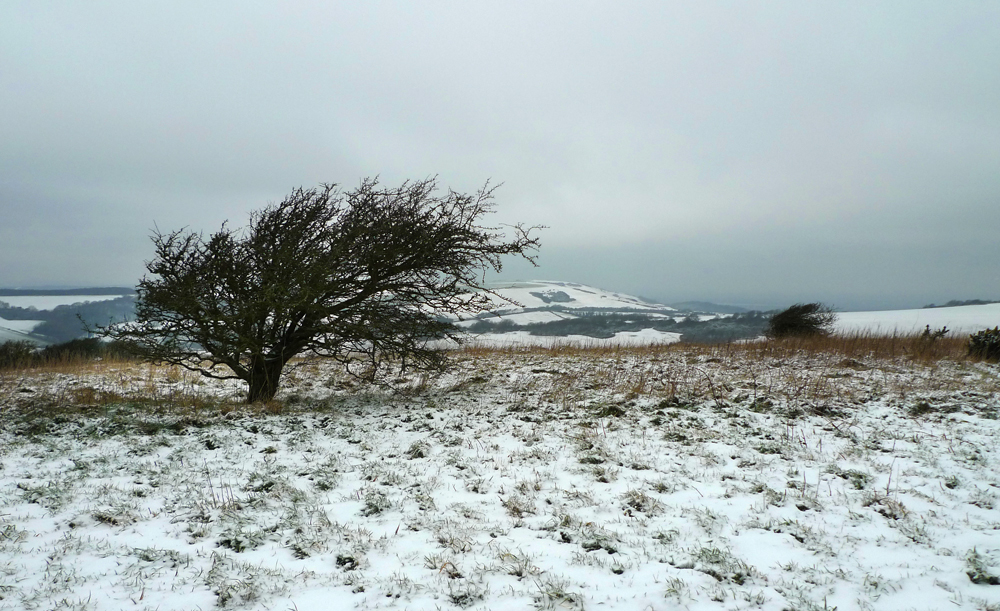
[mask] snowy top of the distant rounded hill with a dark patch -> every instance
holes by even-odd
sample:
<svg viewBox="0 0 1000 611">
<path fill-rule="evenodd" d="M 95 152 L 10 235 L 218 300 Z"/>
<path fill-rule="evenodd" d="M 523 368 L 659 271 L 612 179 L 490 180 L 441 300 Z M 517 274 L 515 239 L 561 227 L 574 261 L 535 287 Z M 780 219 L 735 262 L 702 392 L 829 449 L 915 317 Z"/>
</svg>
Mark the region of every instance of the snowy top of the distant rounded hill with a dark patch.
<svg viewBox="0 0 1000 611">
<path fill-rule="evenodd" d="M 612 293 L 574 282 L 552 280 L 502 282 L 492 285 L 490 289 L 507 299 L 520 303 L 524 308 L 674 310 L 670 306 L 649 303 L 632 295 Z M 518 306 L 503 304 L 497 311 L 507 312 L 519 309 L 521 308 Z"/>
</svg>

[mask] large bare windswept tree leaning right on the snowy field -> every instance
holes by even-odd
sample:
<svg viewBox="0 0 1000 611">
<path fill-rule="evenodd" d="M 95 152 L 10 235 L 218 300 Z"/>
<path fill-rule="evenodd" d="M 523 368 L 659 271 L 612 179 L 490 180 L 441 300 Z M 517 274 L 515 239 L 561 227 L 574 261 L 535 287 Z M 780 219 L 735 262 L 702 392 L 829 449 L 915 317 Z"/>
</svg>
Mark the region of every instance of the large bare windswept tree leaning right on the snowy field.
<svg viewBox="0 0 1000 611">
<path fill-rule="evenodd" d="M 386 188 L 366 179 L 297 189 L 207 239 L 153 234 L 136 319 L 102 328 L 154 361 L 240 379 L 247 402 L 269 400 L 300 354 L 331 357 L 355 375 L 388 362 L 439 369 L 431 340 L 458 339 L 447 314 L 493 304 L 485 274 L 501 258 L 534 263 L 535 228 L 483 226 L 495 187 L 439 194 L 434 179 Z M 360 357 L 360 358 L 359 358 Z"/>
</svg>

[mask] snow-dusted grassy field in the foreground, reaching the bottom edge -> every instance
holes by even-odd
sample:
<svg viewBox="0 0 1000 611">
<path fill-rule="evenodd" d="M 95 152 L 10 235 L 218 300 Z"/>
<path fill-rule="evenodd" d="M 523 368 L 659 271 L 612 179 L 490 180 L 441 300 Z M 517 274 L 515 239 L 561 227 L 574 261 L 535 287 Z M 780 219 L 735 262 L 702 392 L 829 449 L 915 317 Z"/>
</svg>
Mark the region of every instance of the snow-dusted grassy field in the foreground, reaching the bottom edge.
<svg viewBox="0 0 1000 611">
<path fill-rule="evenodd" d="M 751 353 L 4 374 L 0 609 L 1000 608 L 1000 368 Z"/>
</svg>

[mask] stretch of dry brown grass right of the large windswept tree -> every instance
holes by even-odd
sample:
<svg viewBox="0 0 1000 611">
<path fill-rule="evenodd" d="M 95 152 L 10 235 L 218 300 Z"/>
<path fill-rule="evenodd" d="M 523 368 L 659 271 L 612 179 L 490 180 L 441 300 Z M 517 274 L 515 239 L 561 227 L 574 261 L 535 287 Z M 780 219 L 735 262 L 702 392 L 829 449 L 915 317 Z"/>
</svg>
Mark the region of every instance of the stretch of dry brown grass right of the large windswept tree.
<svg viewBox="0 0 1000 611">
<path fill-rule="evenodd" d="M 472 346 L 459 362 L 497 371 L 549 373 L 527 376 L 512 402 L 532 394 L 567 408 L 595 391 L 612 402 L 642 397 L 664 405 L 708 401 L 718 409 L 822 412 L 884 397 L 901 405 L 957 401 L 970 389 L 1000 392 L 992 368 L 970 358 L 962 338 L 929 341 L 915 335 L 851 334 L 728 344 L 654 346 Z M 985 368 L 984 368 L 985 367 Z M 912 407 L 912 405 L 911 405 Z"/>
</svg>

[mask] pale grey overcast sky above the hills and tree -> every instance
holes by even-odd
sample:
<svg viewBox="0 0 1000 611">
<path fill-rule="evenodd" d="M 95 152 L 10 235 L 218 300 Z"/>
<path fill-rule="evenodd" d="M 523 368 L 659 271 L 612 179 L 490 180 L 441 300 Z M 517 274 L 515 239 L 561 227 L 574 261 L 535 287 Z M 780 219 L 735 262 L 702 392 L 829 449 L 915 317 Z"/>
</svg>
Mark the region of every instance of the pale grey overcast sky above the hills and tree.
<svg viewBox="0 0 1000 611">
<path fill-rule="evenodd" d="M 0 286 L 376 175 L 502 183 L 547 228 L 497 279 L 1000 299 L 1000 3 L 0 4 Z"/>
</svg>

